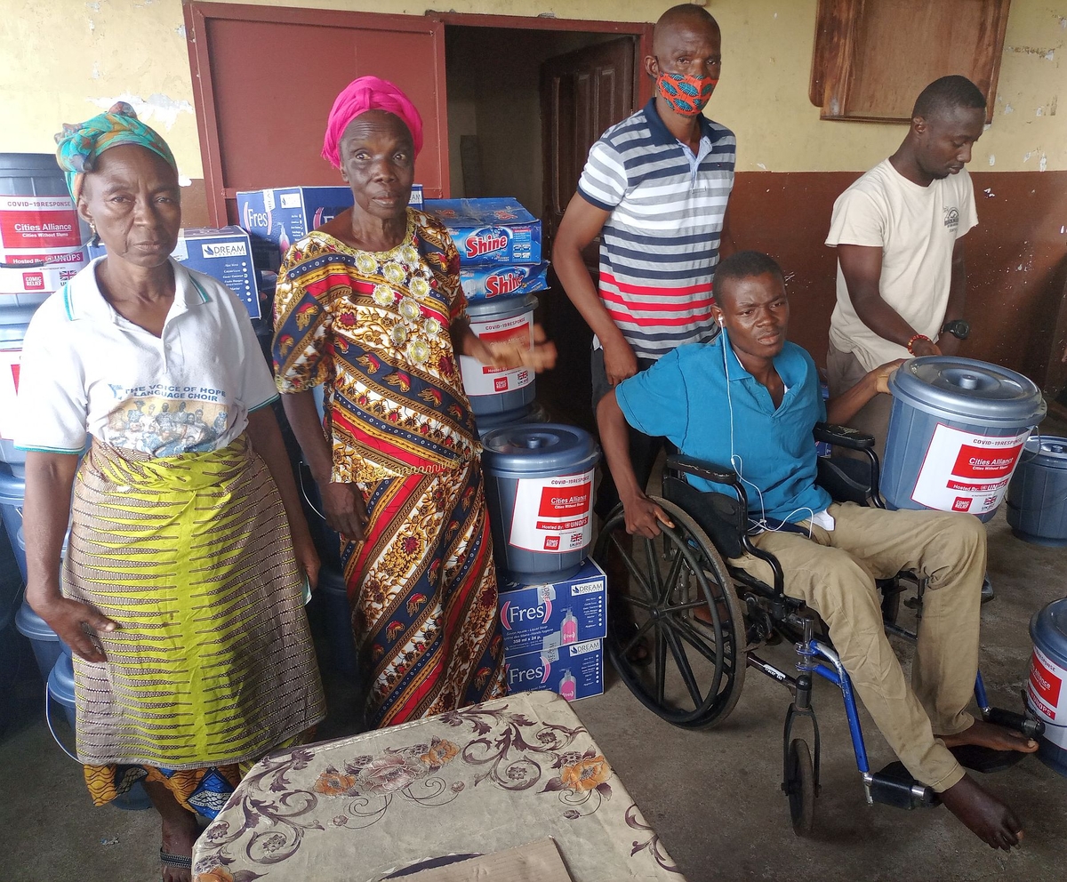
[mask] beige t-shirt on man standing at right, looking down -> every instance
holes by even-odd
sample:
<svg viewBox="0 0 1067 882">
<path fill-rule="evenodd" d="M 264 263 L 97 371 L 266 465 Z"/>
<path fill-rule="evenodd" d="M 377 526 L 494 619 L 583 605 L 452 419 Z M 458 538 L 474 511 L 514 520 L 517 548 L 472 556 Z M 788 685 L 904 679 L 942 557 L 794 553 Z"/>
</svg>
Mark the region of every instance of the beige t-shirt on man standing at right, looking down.
<svg viewBox="0 0 1067 882">
<path fill-rule="evenodd" d="M 920 187 L 886 159 L 838 196 L 826 244 L 880 247 L 882 300 L 918 334 L 936 340 L 949 306 L 953 247 L 977 222 L 974 187 L 966 169 Z M 830 342 L 851 352 L 864 370 L 909 357 L 905 347 L 860 321 L 840 260 Z"/>
</svg>

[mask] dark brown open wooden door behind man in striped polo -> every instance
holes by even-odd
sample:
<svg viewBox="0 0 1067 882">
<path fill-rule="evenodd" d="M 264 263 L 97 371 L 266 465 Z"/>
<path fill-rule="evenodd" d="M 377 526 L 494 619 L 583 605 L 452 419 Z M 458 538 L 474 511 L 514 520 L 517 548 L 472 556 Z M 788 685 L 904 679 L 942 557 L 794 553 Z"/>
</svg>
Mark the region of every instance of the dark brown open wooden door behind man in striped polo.
<svg viewBox="0 0 1067 882">
<path fill-rule="evenodd" d="M 626 36 L 548 59 L 541 65 L 544 162 L 543 236 L 551 243 L 578 186 L 586 157 L 606 129 L 633 113 L 638 98 L 638 38 Z M 640 77 L 640 80 L 646 79 Z M 595 279 L 600 239 L 584 253 Z M 551 253 L 551 252 L 550 252 Z M 593 430 L 589 406 L 592 333 L 550 273 L 542 321 L 559 352 L 556 369 L 538 383 L 542 398 L 567 421 Z"/>
</svg>

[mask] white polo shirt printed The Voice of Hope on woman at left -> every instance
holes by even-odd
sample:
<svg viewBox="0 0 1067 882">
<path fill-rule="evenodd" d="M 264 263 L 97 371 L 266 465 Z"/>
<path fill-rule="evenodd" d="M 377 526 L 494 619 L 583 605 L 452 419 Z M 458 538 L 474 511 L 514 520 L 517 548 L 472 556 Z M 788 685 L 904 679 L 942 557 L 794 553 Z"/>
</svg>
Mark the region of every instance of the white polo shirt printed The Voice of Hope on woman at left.
<svg viewBox="0 0 1067 882">
<path fill-rule="evenodd" d="M 22 344 L 16 447 L 78 453 L 89 435 L 175 456 L 226 447 L 277 398 L 248 310 L 175 260 L 160 337 L 103 299 L 97 258 L 34 314 Z"/>
</svg>

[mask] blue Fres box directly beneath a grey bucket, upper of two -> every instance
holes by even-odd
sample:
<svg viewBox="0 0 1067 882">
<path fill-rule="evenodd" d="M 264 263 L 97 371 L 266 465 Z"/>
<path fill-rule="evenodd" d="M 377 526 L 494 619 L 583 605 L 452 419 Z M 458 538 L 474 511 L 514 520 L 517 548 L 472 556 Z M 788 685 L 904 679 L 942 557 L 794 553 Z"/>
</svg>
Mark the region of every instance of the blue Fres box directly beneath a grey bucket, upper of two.
<svg viewBox="0 0 1067 882">
<path fill-rule="evenodd" d="M 558 582 L 505 582 L 498 603 L 505 655 L 607 636 L 607 580 L 592 559 Z"/>
</svg>

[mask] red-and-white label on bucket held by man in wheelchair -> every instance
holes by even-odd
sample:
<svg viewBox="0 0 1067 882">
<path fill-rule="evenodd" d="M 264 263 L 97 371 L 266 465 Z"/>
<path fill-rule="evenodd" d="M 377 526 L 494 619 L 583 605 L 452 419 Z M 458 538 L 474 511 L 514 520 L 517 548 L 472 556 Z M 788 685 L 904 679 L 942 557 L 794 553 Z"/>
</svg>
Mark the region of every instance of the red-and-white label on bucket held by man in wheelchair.
<svg viewBox="0 0 1067 882">
<path fill-rule="evenodd" d="M 947 426 L 934 430 L 911 498 L 943 512 L 986 514 L 1004 498 L 1030 430 L 976 435 Z"/>
</svg>

